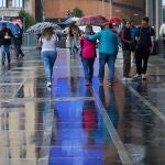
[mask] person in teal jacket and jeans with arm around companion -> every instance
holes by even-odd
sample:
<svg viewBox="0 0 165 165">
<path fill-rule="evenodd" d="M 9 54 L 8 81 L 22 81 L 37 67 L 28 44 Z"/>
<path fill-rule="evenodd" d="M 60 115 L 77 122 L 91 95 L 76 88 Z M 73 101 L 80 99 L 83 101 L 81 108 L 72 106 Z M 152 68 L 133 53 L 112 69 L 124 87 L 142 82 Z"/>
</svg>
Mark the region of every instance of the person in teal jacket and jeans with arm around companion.
<svg viewBox="0 0 165 165">
<path fill-rule="evenodd" d="M 99 41 L 99 82 L 100 86 L 105 79 L 105 65 L 108 64 L 108 84 L 112 86 L 114 76 L 114 63 L 118 54 L 118 37 L 109 29 L 109 22 L 105 22 L 103 30 L 96 33 L 95 35 L 85 35 L 87 40 Z"/>
</svg>

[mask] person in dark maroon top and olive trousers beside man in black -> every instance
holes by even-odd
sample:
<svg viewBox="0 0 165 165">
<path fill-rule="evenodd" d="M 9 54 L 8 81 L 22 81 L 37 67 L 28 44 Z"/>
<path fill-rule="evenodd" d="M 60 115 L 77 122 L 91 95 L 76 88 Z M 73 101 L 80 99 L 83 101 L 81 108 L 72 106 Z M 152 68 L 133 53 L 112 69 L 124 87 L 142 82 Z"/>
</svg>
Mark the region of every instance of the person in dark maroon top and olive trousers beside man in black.
<svg viewBox="0 0 165 165">
<path fill-rule="evenodd" d="M 123 80 L 132 80 L 130 77 L 131 69 L 131 24 L 130 21 L 127 21 L 123 30 L 121 31 L 121 43 L 123 52 Z"/>
</svg>

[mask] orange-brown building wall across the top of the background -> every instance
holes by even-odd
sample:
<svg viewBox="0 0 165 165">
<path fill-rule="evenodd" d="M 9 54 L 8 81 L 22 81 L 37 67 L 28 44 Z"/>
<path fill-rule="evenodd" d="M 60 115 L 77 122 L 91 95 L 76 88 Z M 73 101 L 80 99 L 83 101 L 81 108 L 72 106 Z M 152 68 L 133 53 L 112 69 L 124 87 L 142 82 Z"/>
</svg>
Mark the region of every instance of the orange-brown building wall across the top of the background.
<svg viewBox="0 0 165 165">
<path fill-rule="evenodd" d="M 106 0 L 46 0 L 45 18 L 66 18 L 66 11 L 72 11 L 75 7 L 80 8 L 85 15 L 102 14 L 109 18 L 111 13 L 110 3 L 106 2 Z M 129 16 L 131 19 L 141 18 L 143 9 L 141 0 L 113 0 L 112 15 L 120 18 Z"/>
</svg>

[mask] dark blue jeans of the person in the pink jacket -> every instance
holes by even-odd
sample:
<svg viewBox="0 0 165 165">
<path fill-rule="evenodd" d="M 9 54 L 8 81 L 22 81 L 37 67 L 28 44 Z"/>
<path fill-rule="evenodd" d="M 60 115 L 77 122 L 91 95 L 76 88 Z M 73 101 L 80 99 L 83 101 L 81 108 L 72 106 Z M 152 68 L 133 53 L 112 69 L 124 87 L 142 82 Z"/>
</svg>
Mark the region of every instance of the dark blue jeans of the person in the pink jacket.
<svg viewBox="0 0 165 165">
<path fill-rule="evenodd" d="M 91 59 L 81 58 L 86 80 L 90 80 L 90 81 L 92 80 L 94 62 L 95 62 L 95 58 L 91 58 Z"/>
</svg>

